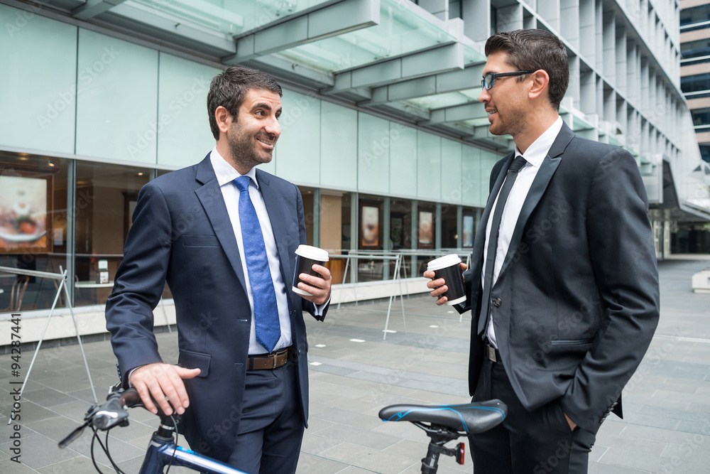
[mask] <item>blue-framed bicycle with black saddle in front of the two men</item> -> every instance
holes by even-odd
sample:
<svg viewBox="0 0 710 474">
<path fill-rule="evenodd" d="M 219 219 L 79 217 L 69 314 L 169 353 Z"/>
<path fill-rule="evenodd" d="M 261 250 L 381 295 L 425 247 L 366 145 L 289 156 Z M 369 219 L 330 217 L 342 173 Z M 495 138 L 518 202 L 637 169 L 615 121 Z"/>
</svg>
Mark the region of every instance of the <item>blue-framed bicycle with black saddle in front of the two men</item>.
<svg viewBox="0 0 710 474">
<path fill-rule="evenodd" d="M 94 468 L 99 473 L 102 470 L 94 458 L 94 441 L 99 441 L 109 462 L 116 473 L 125 474 L 111 458 L 108 450 L 108 431 L 116 426 L 128 426 L 129 408 L 143 406 L 141 397 L 136 389 L 119 389 L 113 387 L 107 401 L 101 405 L 93 404 L 86 416 L 84 424 L 72 431 L 59 443 L 60 448 L 65 448 L 72 441 L 81 436 L 84 429 L 89 426 L 94 432 L 91 445 L 91 458 Z M 444 446 L 449 441 L 454 441 L 460 436 L 471 436 L 483 433 L 501 424 L 506 418 L 507 406 L 499 400 L 476 402 L 463 405 L 391 405 L 380 410 L 379 416 L 383 421 L 410 421 L 423 429 L 431 438 L 427 456 L 422 459 L 422 474 L 436 474 L 439 457 L 441 455 L 454 456 L 459 464 L 464 463 L 465 445 L 458 443 L 454 448 Z M 148 450 L 143 459 L 141 470 L 138 474 L 162 474 L 163 468 L 180 466 L 208 474 L 246 474 L 241 470 L 232 468 L 218 460 L 202 456 L 187 448 L 178 446 L 173 438 L 177 431 L 178 414 L 170 416 L 158 408 L 160 426 L 153 433 Z M 99 438 L 99 431 L 106 431 L 106 444 Z M 166 471 L 167 472 L 167 471 Z"/>
</svg>

